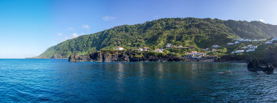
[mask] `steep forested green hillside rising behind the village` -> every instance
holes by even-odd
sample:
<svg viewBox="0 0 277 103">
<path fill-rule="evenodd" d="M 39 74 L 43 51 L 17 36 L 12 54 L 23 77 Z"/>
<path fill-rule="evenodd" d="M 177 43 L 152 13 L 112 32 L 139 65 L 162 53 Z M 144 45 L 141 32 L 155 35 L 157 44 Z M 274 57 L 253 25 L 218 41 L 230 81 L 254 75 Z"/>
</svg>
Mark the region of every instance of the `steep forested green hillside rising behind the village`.
<svg viewBox="0 0 277 103">
<path fill-rule="evenodd" d="M 165 44 L 195 46 L 225 45 L 234 38 L 260 39 L 276 36 L 277 26 L 259 21 L 234 21 L 199 18 L 164 18 L 146 21 L 143 24 L 122 25 L 98 33 L 79 36 L 48 48 L 33 58 L 68 58 L 77 51 L 79 55 L 90 54 L 100 49 L 122 46 L 124 49 L 150 47 L 156 49 Z M 168 50 L 167 52 L 180 50 Z"/>
</svg>

